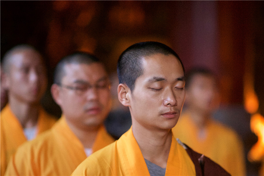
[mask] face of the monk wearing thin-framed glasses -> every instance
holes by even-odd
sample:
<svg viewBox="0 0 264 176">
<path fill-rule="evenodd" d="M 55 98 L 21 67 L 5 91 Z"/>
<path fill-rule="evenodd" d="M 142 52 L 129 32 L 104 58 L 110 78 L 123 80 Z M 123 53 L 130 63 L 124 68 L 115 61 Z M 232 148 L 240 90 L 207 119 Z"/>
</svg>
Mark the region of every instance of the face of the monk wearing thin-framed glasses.
<svg viewBox="0 0 264 176">
<path fill-rule="evenodd" d="M 67 64 L 64 71 L 57 101 L 62 114 L 79 128 L 98 127 L 111 108 L 110 83 L 104 67 L 101 63 Z"/>
</svg>

